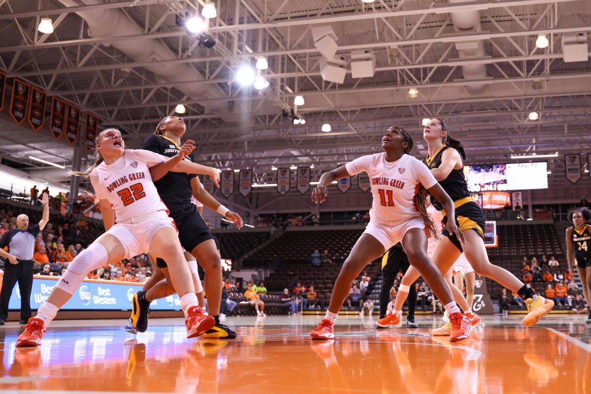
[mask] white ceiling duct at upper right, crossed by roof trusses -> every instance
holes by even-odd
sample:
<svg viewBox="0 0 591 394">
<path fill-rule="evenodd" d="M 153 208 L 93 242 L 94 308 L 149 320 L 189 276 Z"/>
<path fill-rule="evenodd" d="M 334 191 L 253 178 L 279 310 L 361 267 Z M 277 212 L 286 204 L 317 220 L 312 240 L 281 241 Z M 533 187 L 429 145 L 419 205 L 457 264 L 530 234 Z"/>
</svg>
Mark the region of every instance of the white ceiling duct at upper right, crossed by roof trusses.
<svg viewBox="0 0 591 394">
<path fill-rule="evenodd" d="M 450 4 L 470 2 L 471 0 L 448 0 Z M 467 10 L 452 12 L 452 22 L 456 31 L 478 31 L 480 28 L 480 11 Z M 460 59 L 470 57 L 482 58 L 485 56 L 484 45 L 482 40 L 477 41 L 463 41 L 456 43 L 457 53 Z M 464 79 L 482 80 L 486 78 L 485 64 L 468 64 L 462 66 L 462 73 Z M 478 94 L 485 90 L 485 84 L 469 84 L 466 85 L 466 90 L 470 93 Z"/>
</svg>

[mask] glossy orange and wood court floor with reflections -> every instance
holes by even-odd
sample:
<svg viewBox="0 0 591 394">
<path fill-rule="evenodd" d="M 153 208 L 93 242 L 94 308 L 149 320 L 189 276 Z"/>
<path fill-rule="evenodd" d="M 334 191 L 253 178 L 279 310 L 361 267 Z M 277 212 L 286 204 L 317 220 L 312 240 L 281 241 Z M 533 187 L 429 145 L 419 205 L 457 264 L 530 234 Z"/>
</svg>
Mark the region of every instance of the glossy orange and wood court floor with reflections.
<svg viewBox="0 0 591 394">
<path fill-rule="evenodd" d="M 430 336 L 433 319 L 418 330 L 376 331 L 369 318 L 339 318 L 335 340 L 314 342 L 311 317 L 236 318 L 235 341 L 187 340 L 177 320 L 154 320 L 137 337 L 113 325 L 118 321 L 56 322 L 32 349 L 16 349 L 18 327 L 7 325 L 0 330 L 0 391 L 588 392 L 584 323 L 548 319 L 526 329 L 517 319 L 483 320 L 470 340 L 453 344 Z"/>
</svg>

